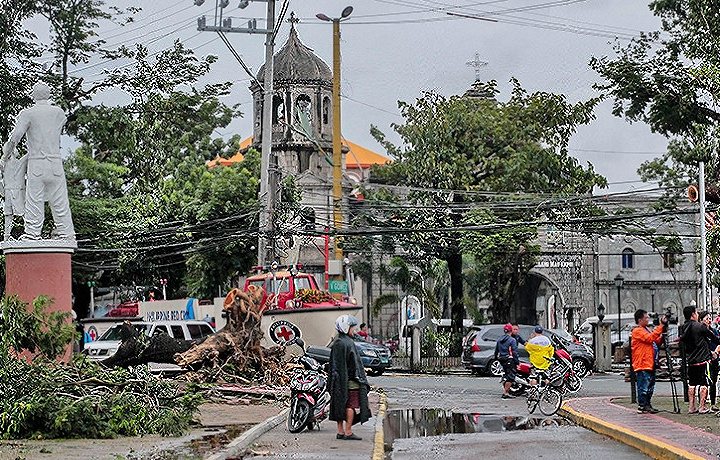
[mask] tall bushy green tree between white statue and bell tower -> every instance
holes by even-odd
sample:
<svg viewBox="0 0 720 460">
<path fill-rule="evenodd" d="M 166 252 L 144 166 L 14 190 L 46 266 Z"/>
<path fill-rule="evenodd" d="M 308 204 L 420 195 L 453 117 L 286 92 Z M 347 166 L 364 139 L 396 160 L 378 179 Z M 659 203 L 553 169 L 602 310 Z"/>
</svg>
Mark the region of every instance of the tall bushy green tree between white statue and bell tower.
<svg viewBox="0 0 720 460">
<path fill-rule="evenodd" d="M 220 98 L 230 85 L 193 85 L 215 62 L 177 42 L 156 57 L 138 46 L 135 66 L 109 80 L 123 106 L 83 106 L 69 131 L 82 145 L 67 161 L 76 258 L 86 277 L 210 297 L 254 257 L 259 157 L 233 167 L 207 161 L 237 152 L 239 138 L 213 138 L 239 112 Z M 189 87 L 189 89 L 188 89 Z"/>
</svg>

